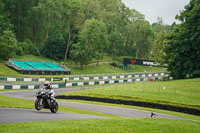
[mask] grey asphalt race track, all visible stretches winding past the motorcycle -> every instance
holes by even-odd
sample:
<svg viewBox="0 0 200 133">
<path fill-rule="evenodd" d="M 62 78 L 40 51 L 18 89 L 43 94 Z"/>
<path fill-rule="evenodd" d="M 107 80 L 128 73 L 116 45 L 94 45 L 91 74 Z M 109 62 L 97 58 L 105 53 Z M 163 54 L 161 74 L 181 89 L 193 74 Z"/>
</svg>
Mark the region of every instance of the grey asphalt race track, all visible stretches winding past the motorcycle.
<svg viewBox="0 0 200 133">
<path fill-rule="evenodd" d="M 55 89 L 56 94 L 64 93 L 68 91 L 79 90 L 80 88 L 65 88 L 65 89 Z M 35 100 L 35 94 L 37 90 L 30 91 L 7 91 L 1 92 L 0 95 Z M 77 102 L 65 102 L 58 101 L 58 104 L 61 106 L 77 108 L 82 110 L 88 110 L 93 112 L 111 114 L 115 116 L 121 116 L 125 118 L 148 118 L 150 117 L 151 112 L 142 111 L 137 109 L 128 109 L 121 107 L 112 107 L 112 106 L 102 106 L 102 105 L 91 105 Z M 33 102 L 34 106 L 34 102 Z M 157 114 L 159 118 L 168 118 L 168 119 L 179 119 L 179 120 L 189 120 L 186 118 L 170 116 L 165 114 Z M 96 118 L 105 118 L 91 115 L 82 115 L 82 114 L 72 114 L 72 113 L 62 113 L 59 112 L 53 114 L 49 111 L 36 111 L 31 109 L 14 109 L 14 108 L 0 108 L 0 124 L 3 123 L 16 123 L 16 122 L 25 122 L 25 121 L 50 121 L 50 120 L 66 120 L 66 119 L 96 119 Z"/>
</svg>

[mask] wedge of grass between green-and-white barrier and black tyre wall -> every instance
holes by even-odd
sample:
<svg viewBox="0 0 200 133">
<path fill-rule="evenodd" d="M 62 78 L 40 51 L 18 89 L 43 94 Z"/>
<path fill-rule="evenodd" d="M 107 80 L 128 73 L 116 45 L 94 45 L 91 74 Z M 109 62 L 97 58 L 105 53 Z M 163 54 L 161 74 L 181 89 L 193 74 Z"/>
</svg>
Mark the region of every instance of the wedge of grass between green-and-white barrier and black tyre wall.
<svg viewBox="0 0 200 133">
<path fill-rule="evenodd" d="M 200 109 L 200 79 L 137 82 L 68 92 L 64 95 L 136 100 Z"/>
</svg>

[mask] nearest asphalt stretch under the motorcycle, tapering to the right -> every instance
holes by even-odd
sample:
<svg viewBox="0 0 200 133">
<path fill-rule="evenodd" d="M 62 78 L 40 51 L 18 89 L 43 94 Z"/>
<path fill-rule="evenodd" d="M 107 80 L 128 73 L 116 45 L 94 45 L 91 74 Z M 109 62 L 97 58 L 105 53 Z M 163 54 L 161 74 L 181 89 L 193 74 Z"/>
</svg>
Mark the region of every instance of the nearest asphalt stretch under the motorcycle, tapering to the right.
<svg viewBox="0 0 200 133">
<path fill-rule="evenodd" d="M 102 119 L 106 117 L 74 114 L 74 113 L 51 113 L 50 111 L 19 108 L 0 108 L 0 124 L 29 122 L 29 121 L 52 121 L 73 119 Z"/>
</svg>

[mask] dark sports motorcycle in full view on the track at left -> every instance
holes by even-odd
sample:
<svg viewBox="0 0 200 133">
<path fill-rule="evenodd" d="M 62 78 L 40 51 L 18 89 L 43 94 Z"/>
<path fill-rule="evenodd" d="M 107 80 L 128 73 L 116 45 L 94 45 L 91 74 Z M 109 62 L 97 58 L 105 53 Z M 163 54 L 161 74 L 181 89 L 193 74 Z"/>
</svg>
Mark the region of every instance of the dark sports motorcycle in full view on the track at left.
<svg viewBox="0 0 200 133">
<path fill-rule="evenodd" d="M 42 108 L 50 109 L 52 113 L 58 111 L 58 103 L 55 99 L 55 92 L 53 90 L 46 90 L 41 88 L 36 93 L 37 99 L 35 100 L 35 109 L 41 110 Z"/>
</svg>

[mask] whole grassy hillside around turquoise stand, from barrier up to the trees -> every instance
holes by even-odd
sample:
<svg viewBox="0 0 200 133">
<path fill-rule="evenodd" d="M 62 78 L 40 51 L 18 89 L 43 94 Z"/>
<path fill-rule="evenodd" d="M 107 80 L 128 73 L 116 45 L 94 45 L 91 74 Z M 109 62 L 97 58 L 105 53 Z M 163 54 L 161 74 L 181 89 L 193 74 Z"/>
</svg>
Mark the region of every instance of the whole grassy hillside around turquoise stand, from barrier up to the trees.
<svg viewBox="0 0 200 133">
<path fill-rule="evenodd" d="M 122 57 L 117 57 L 122 60 Z M 33 55 L 24 55 L 24 56 L 15 56 L 13 59 L 18 60 L 29 60 L 29 61 L 50 61 L 58 64 L 63 64 L 63 60 L 55 61 L 43 56 L 33 56 Z M 111 56 L 105 56 L 103 60 L 100 62 L 108 62 L 111 61 Z M 22 75 L 5 65 L 6 61 L 0 61 L 0 76 L 18 76 L 18 77 L 52 77 L 52 76 L 44 76 L 44 75 Z M 90 63 L 94 63 L 92 66 L 85 66 L 82 69 L 79 65 L 76 65 L 74 61 L 67 60 L 66 66 L 71 69 L 72 75 L 80 75 L 80 74 L 103 74 L 103 73 L 129 73 L 129 72 L 156 72 L 156 71 L 166 71 L 166 68 L 160 67 L 147 67 L 147 66 L 136 66 L 130 65 L 129 70 L 118 69 L 110 66 L 109 64 L 99 64 L 96 65 L 96 60 L 92 60 Z M 89 63 L 89 64 L 90 64 Z M 77 67 L 73 67 L 77 66 Z M 66 77 L 66 75 L 59 75 L 53 77 Z"/>
</svg>

